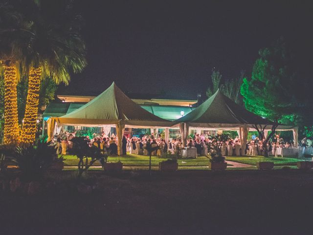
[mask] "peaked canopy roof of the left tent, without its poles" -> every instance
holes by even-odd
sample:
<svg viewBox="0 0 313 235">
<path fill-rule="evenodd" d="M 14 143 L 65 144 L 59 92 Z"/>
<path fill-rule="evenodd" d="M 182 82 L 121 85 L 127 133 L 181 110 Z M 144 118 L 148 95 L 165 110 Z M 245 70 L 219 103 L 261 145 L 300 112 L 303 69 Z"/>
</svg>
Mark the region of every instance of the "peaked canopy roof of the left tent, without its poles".
<svg viewBox="0 0 313 235">
<path fill-rule="evenodd" d="M 126 126 L 171 126 L 127 97 L 113 82 L 112 85 L 79 109 L 55 118 L 65 125 L 102 126 L 123 122 Z"/>
</svg>

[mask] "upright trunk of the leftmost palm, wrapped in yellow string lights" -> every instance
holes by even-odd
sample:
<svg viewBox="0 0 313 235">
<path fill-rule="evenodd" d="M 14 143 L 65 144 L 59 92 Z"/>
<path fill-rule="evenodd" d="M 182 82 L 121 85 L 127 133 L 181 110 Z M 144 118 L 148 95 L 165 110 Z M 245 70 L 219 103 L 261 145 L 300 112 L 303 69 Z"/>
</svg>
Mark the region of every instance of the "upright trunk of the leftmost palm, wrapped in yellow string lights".
<svg viewBox="0 0 313 235">
<path fill-rule="evenodd" d="M 4 144 L 17 143 L 20 137 L 15 66 L 4 66 Z"/>
</svg>

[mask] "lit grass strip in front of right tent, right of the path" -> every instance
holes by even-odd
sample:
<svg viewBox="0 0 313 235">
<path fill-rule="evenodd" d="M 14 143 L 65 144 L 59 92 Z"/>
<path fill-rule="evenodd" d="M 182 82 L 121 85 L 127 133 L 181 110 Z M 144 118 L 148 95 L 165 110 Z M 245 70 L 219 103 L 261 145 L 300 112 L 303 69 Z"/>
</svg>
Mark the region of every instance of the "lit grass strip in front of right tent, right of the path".
<svg viewBox="0 0 313 235">
<path fill-rule="evenodd" d="M 244 156 L 244 157 L 226 157 L 226 160 L 256 165 L 257 162 L 273 162 L 275 165 L 292 165 L 296 164 L 299 161 L 305 161 L 303 159 L 298 158 L 282 158 L 282 157 L 268 157 L 265 158 L 263 156 Z M 308 159 L 311 161 L 311 159 Z"/>
</svg>

